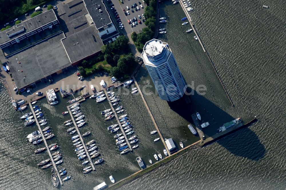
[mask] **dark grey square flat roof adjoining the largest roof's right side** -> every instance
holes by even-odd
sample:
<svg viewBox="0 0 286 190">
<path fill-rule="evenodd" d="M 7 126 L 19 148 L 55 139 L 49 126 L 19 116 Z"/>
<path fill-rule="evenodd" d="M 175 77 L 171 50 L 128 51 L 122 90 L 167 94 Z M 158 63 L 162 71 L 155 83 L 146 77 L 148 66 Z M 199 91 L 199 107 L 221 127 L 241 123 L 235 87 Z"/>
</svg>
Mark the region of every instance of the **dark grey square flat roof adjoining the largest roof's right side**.
<svg viewBox="0 0 286 190">
<path fill-rule="evenodd" d="M 62 40 L 72 63 L 101 50 L 103 43 L 94 25 Z"/>
</svg>

